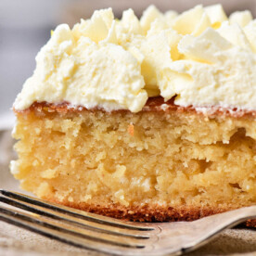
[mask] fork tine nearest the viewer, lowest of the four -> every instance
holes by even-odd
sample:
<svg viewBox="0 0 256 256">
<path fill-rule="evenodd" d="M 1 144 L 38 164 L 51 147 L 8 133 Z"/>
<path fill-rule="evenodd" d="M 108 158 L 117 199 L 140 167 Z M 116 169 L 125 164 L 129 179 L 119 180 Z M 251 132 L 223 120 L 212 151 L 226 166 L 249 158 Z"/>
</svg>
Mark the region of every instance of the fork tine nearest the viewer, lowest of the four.
<svg viewBox="0 0 256 256">
<path fill-rule="evenodd" d="M 122 255 L 127 249 L 129 249 L 128 253 L 130 254 L 133 251 L 135 252 L 136 250 L 145 248 L 145 245 L 143 244 L 120 243 L 114 240 L 109 241 L 98 237 L 86 236 L 84 234 L 81 235 L 80 231 L 76 233 L 69 228 L 59 226 L 59 224 L 52 224 L 49 220 L 42 220 L 40 216 L 28 215 L 5 207 L 0 207 L 0 220 L 45 237 L 53 238 L 66 244 L 87 250 Z"/>
</svg>

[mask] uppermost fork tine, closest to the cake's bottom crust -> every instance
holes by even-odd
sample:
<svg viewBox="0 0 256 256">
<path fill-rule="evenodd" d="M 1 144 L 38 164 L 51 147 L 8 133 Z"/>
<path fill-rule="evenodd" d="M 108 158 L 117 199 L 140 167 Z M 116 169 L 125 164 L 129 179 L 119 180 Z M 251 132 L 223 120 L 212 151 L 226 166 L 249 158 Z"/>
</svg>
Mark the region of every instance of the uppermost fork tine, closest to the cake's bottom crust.
<svg viewBox="0 0 256 256">
<path fill-rule="evenodd" d="M 58 205 L 56 203 L 50 203 L 46 200 L 43 199 L 38 199 L 38 198 L 32 198 L 27 195 L 23 195 L 17 192 L 12 192 L 12 191 L 7 191 L 4 189 L 0 189 L 0 193 L 5 196 L 6 198 L 15 198 L 23 202 L 30 203 L 32 205 L 37 205 L 40 207 L 44 207 L 45 209 L 53 210 L 53 211 L 58 211 L 61 213 L 68 214 L 73 217 L 77 217 L 89 222 L 94 222 L 97 224 L 108 224 L 110 226 L 116 226 L 119 228 L 124 228 L 124 229 L 131 229 L 131 230 L 138 230 L 138 231 L 150 231 L 154 230 L 150 224 L 137 224 L 137 223 L 129 223 L 124 222 L 122 220 L 116 220 L 113 218 L 101 216 L 98 214 L 86 212 L 86 211 L 80 211 L 77 209 L 70 209 L 69 207 L 65 207 L 62 205 Z"/>
</svg>

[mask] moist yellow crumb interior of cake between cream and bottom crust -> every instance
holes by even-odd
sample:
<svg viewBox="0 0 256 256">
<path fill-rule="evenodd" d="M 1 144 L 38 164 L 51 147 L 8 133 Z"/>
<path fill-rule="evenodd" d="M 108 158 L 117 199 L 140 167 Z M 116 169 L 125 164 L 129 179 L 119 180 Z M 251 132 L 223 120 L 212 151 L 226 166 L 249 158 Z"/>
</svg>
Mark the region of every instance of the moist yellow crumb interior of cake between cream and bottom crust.
<svg viewBox="0 0 256 256">
<path fill-rule="evenodd" d="M 207 215 L 256 203 L 249 117 L 34 109 L 17 112 L 14 135 L 12 173 L 39 198 L 84 210 L 115 205 L 130 219 L 145 206 L 147 219 L 154 208 Z"/>
</svg>

